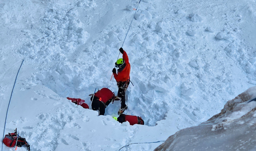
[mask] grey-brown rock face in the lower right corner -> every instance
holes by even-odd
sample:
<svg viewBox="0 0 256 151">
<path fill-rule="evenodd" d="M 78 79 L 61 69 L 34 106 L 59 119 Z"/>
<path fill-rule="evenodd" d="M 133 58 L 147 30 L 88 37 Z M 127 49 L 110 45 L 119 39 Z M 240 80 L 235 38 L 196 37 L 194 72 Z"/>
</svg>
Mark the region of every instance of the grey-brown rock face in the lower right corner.
<svg viewBox="0 0 256 151">
<path fill-rule="evenodd" d="M 256 150 L 256 101 L 249 102 L 255 97 L 256 86 L 229 100 L 208 121 L 168 137 L 154 151 Z"/>
</svg>

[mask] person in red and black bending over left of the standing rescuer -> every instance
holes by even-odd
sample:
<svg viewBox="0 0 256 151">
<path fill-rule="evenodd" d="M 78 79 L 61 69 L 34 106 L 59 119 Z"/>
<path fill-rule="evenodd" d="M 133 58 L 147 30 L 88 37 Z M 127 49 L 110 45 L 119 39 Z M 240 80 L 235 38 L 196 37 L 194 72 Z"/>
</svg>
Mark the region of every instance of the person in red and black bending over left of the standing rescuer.
<svg viewBox="0 0 256 151">
<path fill-rule="evenodd" d="M 105 108 L 114 100 L 120 100 L 115 96 L 115 93 L 109 90 L 108 88 L 102 88 L 98 90 L 94 95 L 89 95 L 91 97 L 91 108 L 92 110 L 98 110 L 99 115 L 105 114 Z"/>
</svg>

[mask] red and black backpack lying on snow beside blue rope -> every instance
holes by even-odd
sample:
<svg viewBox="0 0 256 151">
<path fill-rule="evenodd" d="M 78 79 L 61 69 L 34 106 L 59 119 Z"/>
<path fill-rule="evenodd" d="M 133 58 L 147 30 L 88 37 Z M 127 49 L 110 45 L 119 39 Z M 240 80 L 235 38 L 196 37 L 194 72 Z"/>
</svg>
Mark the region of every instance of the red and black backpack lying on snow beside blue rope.
<svg viewBox="0 0 256 151">
<path fill-rule="evenodd" d="M 18 141 L 17 141 L 18 137 Z M 17 141 L 17 147 L 22 147 L 23 145 L 27 146 L 28 151 L 30 150 L 30 145 L 25 138 L 18 136 L 17 128 L 14 130 L 14 133 L 8 133 L 4 136 L 3 143 L 8 147 L 14 147 Z"/>
</svg>

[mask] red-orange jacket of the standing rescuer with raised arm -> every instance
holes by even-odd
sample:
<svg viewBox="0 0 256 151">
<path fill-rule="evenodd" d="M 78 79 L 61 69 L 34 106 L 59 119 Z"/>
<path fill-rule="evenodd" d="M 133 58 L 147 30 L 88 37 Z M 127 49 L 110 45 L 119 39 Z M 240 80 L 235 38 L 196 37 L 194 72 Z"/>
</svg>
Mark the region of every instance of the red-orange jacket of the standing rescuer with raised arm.
<svg viewBox="0 0 256 151">
<path fill-rule="evenodd" d="M 114 73 L 114 77 L 117 82 L 123 82 L 130 79 L 130 63 L 126 51 L 123 51 L 123 60 L 125 61 L 126 67 L 124 67 L 121 72 L 118 72 L 117 74 Z"/>
</svg>

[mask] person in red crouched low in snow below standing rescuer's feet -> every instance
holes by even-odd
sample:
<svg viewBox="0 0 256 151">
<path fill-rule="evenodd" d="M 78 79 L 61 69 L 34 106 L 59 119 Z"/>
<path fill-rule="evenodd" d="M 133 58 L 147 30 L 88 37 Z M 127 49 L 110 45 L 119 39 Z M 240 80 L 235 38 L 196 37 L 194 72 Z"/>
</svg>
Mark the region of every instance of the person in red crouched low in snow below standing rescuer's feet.
<svg viewBox="0 0 256 151">
<path fill-rule="evenodd" d="M 119 117 L 117 117 L 117 121 L 120 123 L 128 121 L 130 125 L 134 125 L 134 124 L 144 125 L 143 119 L 140 116 L 134 116 L 134 115 L 121 114 Z"/>
</svg>

